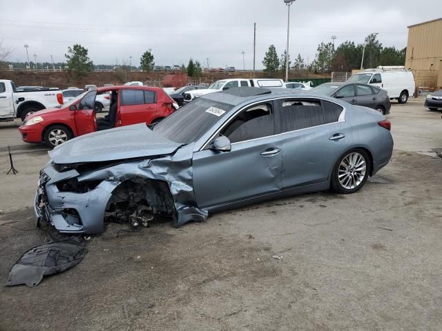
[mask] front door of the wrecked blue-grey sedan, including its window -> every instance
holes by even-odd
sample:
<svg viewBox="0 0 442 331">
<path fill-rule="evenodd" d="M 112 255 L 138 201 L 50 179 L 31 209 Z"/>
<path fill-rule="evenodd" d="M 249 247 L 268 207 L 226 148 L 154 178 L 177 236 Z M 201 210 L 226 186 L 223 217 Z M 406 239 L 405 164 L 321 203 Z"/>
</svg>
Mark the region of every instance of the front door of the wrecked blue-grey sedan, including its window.
<svg viewBox="0 0 442 331">
<path fill-rule="evenodd" d="M 262 109 L 255 108 L 257 105 L 245 108 L 220 128 L 220 134 L 231 139 L 229 152 L 208 147 L 193 154 L 193 189 L 198 207 L 280 191 L 282 146 L 280 137 L 273 134 L 273 103 L 258 106 Z"/>
</svg>

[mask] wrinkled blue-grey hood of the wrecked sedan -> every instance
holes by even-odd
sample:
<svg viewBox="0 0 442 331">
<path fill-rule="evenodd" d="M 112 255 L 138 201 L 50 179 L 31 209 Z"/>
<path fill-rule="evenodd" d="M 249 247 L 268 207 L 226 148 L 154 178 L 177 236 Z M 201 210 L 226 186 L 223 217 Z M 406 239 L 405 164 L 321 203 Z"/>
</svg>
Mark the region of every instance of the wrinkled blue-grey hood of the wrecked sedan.
<svg viewBox="0 0 442 331">
<path fill-rule="evenodd" d="M 49 152 L 60 164 L 113 161 L 171 154 L 182 146 L 149 129 L 145 123 L 85 134 Z"/>
</svg>

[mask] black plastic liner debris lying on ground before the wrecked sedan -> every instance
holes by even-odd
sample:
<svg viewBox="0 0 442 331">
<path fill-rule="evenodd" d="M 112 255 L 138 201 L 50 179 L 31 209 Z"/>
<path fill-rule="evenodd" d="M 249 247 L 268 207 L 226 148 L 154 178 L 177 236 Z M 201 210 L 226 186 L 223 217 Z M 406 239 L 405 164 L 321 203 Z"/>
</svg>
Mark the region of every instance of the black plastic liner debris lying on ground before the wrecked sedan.
<svg viewBox="0 0 442 331">
<path fill-rule="evenodd" d="M 6 286 L 37 286 L 44 276 L 73 268 L 87 252 L 86 241 L 78 236 L 38 245 L 23 254 L 12 266 Z"/>
</svg>

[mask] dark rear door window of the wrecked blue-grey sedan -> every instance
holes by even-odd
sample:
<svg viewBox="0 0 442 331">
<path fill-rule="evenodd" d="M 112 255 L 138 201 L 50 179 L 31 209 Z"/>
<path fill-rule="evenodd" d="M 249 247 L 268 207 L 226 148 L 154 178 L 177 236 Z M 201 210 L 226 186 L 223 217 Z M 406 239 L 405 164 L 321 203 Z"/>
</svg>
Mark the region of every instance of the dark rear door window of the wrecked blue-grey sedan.
<svg viewBox="0 0 442 331">
<path fill-rule="evenodd" d="M 290 132 L 325 124 L 323 108 L 317 99 L 285 99 L 276 112 L 276 133 Z"/>
</svg>

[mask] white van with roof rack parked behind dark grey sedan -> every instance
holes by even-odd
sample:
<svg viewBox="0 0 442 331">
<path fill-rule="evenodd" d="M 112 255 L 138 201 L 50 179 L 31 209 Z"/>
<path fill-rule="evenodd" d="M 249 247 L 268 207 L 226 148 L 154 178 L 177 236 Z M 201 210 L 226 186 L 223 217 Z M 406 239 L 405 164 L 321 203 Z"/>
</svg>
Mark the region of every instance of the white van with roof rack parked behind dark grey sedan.
<svg viewBox="0 0 442 331">
<path fill-rule="evenodd" d="M 403 66 L 378 66 L 376 69 L 367 69 L 352 74 L 347 82 L 367 83 L 387 91 L 390 99 L 397 99 L 399 103 L 406 103 L 408 97 L 414 94 L 416 83 L 411 71 Z"/>
</svg>

